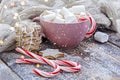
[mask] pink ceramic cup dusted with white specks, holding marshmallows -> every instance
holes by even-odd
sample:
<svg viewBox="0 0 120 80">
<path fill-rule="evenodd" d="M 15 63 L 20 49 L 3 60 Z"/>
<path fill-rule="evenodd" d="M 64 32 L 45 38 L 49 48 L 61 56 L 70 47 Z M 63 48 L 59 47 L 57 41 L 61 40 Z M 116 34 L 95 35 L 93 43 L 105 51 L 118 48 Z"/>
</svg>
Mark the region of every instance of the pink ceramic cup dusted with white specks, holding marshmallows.
<svg viewBox="0 0 120 80">
<path fill-rule="evenodd" d="M 54 45 L 64 48 L 76 47 L 84 39 L 90 26 L 89 20 L 79 23 L 51 23 L 37 17 L 34 20 L 40 20 L 44 34 Z"/>
</svg>

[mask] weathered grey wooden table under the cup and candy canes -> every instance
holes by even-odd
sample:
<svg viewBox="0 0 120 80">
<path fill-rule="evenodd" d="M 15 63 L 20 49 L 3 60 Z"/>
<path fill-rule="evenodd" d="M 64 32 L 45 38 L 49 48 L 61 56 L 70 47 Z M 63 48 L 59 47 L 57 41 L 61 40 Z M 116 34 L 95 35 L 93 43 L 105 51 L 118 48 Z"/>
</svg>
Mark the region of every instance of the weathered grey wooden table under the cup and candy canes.
<svg viewBox="0 0 120 80">
<path fill-rule="evenodd" d="M 15 51 L 0 53 L 0 80 L 120 80 L 120 39 L 115 33 L 110 35 L 109 42 L 100 44 L 92 38 L 84 40 L 74 49 L 63 50 L 63 59 L 80 62 L 81 71 L 77 73 L 62 72 L 53 78 L 36 76 L 31 69 L 35 65 L 16 64 L 20 58 Z M 49 42 L 42 44 L 42 49 L 56 48 Z M 49 66 L 41 65 L 40 69 L 51 71 Z"/>
</svg>

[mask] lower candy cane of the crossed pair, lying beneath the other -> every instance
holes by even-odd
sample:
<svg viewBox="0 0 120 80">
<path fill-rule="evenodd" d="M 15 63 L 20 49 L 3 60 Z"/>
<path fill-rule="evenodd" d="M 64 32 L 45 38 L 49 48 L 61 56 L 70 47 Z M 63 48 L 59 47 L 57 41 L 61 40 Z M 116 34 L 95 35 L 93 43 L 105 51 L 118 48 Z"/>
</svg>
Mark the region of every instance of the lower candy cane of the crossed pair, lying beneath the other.
<svg viewBox="0 0 120 80">
<path fill-rule="evenodd" d="M 72 61 L 66 61 L 66 60 L 52 60 L 54 61 L 56 64 L 62 65 L 60 66 L 60 69 L 66 72 L 77 72 L 80 70 L 81 65 Z M 30 63 L 30 64 L 34 64 L 34 63 L 42 63 L 42 64 L 46 64 L 40 60 L 36 60 L 36 59 L 16 59 L 16 63 Z M 67 67 L 69 66 L 69 67 Z"/>
</svg>

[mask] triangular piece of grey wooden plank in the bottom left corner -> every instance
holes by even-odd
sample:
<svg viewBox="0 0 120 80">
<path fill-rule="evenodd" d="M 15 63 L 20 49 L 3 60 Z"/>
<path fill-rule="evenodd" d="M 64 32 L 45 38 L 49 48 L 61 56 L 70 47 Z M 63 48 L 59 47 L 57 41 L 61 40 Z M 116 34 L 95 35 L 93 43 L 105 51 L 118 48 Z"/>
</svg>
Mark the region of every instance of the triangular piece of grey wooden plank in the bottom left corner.
<svg viewBox="0 0 120 80">
<path fill-rule="evenodd" d="M 0 60 L 0 80 L 22 80 Z"/>
</svg>

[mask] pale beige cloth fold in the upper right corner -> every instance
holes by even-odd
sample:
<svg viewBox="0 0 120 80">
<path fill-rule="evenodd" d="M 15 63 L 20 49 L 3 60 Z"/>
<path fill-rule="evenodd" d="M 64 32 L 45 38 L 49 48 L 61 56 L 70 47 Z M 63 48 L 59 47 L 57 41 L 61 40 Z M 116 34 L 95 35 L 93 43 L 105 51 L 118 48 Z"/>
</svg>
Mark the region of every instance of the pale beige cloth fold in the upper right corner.
<svg viewBox="0 0 120 80">
<path fill-rule="evenodd" d="M 112 22 L 109 29 L 120 33 L 120 0 L 100 0 L 98 4 Z"/>
</svg>

